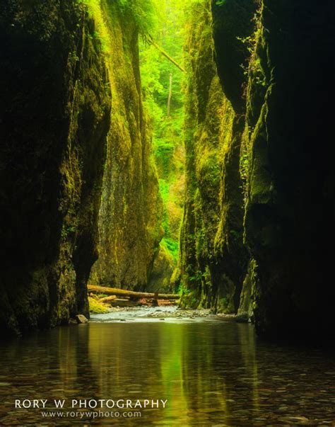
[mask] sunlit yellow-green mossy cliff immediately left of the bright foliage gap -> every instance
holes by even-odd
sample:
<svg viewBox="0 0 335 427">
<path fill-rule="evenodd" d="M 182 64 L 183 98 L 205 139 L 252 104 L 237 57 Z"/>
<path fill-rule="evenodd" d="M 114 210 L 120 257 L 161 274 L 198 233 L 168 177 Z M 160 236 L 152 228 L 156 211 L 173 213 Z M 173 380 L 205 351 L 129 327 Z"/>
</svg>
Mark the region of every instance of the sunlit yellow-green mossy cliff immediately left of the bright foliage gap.
<svg viewBox="0 0 335 427">
<path fill-rule="evenodd" d="M 99 215 L 99 259 L 93 283 L 144 290 L 163 237 L 163 202 L 143 110 L 139 27 L 110 1 L 102 8 L 112 52 L 111 127 Z"/>
</svg>

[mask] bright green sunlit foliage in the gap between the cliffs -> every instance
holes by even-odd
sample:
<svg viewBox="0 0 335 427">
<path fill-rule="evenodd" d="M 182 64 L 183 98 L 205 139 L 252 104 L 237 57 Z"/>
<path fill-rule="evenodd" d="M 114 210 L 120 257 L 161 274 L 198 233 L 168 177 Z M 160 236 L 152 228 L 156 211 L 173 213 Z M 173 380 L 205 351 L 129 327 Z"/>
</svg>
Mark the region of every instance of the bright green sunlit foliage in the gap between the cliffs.
<svg viewBox="0 0 335 427">
<path fill-rule="evenodd" d="M 133 4 L 132 1 L 118 0 L 119 3 L 120 1 L 122 4 Z M 138 1 L 139 3 L 141 1 Z M 182 64 L 184 4 L 179 0 L 157 0 L 157 4 L 160 9 L 160 14 L 156 15 L 159 28 L 151 25 L 150 35 L 168 55 Z M 155 46 L 146 42 L 146 38 L 140 42 L 140 66 L 143 103 L 151 118 L 153 155 L 157 164 L 160 194 L 164 204 L 162 225 L 165 237 L 161 241 L 161 246 L 176 261 L 184 193 L 184 100 L 182 98 L 184 76 L 180 69 L 165 58 Z M 170 74 L 172 74 L 172 98 L 170 116 L 168 116 Z"/>
</svg>

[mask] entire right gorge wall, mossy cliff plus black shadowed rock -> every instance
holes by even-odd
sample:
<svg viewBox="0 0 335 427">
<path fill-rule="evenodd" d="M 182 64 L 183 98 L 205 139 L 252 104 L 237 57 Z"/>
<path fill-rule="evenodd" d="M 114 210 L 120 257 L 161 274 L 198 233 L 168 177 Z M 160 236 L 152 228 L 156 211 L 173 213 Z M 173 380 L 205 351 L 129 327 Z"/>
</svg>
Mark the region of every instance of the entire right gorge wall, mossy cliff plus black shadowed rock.
<svg viewBox="0 0 335 427">
<path fill-rule="evenodd" d="M 273 338 L 327 334 L 335 6 L 196 1 L 189 13 L 182 302 L 253 312 Z"/>
</svg>

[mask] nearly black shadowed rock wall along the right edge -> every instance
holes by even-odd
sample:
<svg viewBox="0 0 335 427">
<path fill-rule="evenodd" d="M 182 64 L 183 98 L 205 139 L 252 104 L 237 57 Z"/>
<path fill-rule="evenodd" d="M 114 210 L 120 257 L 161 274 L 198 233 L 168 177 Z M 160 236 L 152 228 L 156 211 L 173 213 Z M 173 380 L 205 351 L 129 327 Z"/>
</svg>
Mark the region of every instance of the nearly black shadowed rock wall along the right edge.
<svg viewBox="0 0 335 427">
<path fill-rule="evenodd" d="M 223 2 L 228 7 L 228 0 Z M 242 2 L 247 4 L 246 2 Z M 224 6 L 223 5 L 223 6 Z M 224 8 L 213 7 L 216 57 L 228 88 Z M 264 0 L 249 66 L 245 236 L 259 334 L 327 336 L 331 315 L 335 6 Z M 222 27 L 221 27 L 222 25 Z M 227 92 L 227 96 L 230 96 Z M 250 280 L 247 280 L 250 282 Z"/>
</svg>

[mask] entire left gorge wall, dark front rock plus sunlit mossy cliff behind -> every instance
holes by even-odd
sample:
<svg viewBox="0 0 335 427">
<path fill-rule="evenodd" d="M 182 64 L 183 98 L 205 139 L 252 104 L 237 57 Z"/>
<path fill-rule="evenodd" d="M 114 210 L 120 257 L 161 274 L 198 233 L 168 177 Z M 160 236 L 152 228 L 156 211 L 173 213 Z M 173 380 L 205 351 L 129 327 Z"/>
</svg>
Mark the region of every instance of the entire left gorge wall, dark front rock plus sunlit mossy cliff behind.
<svg viewBox="0 0 335 427">
<path fill-rule="evenodd" d="M 141 104 L 139 28 L 125 13 L 95 0 L 1 6 L 6 333 L 88 315 L 98 223 L 95 277 L 105 285 L 147 283 L 163 234 L 162 202 Z"/>
</svg>

